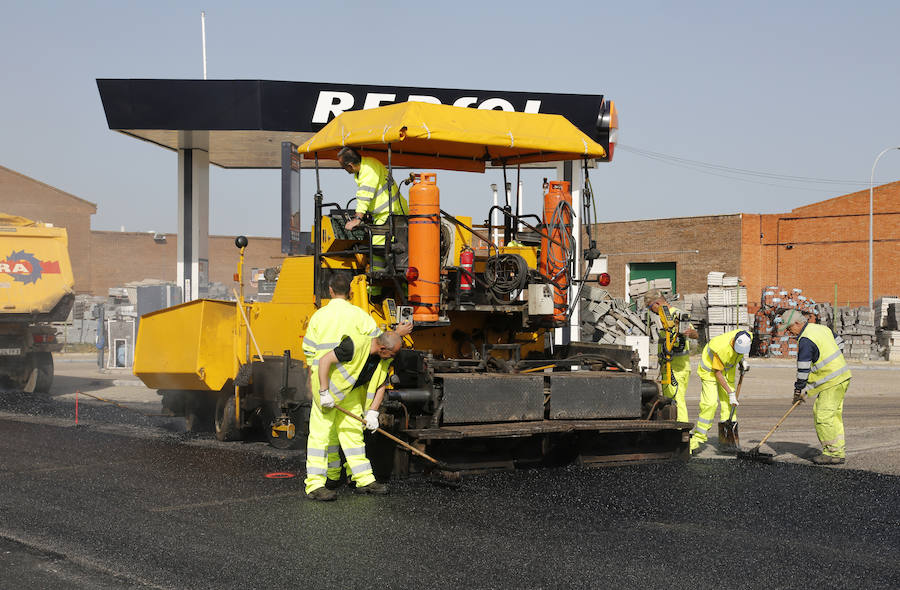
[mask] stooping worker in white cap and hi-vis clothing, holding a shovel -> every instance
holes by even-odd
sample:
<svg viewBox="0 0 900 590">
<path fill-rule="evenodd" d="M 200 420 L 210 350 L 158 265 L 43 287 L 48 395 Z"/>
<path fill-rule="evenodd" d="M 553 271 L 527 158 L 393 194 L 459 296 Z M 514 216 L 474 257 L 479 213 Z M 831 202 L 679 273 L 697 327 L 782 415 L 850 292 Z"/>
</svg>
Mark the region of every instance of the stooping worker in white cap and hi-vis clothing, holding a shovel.
<svg viewBox="0 0 900 590">
<path fill-rule="evenodd" d="M 732 330 L 714 338 L 703 347 L 697 376 L 700 377 L 700 411 L 697 424 L 691 432 L 691 452 L 706 442 L 707 433 L 716 417 L 716 406 L 721 405 L 719 414 L 724 421 L 735 408 L 733 421 L 737 422 L 737 395 L 734 392 L 734 374 L 738 365 L 742 370 L 749 367 L 744 355 L 750 353 L 753 337 L 746 330 Z"/>
</svg>

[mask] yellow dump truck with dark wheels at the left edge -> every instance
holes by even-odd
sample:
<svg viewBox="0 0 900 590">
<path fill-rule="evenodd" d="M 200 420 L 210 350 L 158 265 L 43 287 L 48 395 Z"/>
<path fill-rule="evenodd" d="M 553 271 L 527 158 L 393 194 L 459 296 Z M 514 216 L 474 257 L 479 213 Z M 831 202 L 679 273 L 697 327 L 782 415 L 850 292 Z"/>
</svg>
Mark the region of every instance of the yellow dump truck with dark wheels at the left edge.
<svg viewBox="0 0 900 590">
<path fill-rule="evenodd" d="M 47 393 L 53 353 L 62 350 L 51 322 L 75 302 L 65 228 L 0 213 L 0 377 L 16 389 Z"/>
</svg>

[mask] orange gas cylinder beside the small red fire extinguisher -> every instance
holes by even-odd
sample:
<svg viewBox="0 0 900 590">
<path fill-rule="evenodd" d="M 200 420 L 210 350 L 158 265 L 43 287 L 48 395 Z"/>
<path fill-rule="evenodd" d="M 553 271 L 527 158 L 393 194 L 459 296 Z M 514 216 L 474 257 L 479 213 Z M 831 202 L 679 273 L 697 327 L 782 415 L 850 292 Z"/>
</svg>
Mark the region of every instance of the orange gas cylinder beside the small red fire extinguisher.
<svg viewBox="0 0 900 590">
<path fill-rule="evenodd" d="M 437 175 L 416 174 L 409 187 L 409 301 L 413 319 L 438 319 L 441 297 L 441 199 Z"/>
</svg>

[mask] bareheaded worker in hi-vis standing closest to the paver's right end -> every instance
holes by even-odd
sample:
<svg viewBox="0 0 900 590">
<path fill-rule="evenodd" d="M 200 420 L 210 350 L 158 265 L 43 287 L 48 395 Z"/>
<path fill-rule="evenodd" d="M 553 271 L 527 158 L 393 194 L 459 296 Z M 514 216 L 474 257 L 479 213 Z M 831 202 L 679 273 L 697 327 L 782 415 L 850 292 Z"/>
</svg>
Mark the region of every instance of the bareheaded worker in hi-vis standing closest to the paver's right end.
<svg viewBox="0 0 900 590">
<path fill-rule="evenodd" d="M 691 348 L 687 340 L 696 339 L 697 330 L 690 323 L 686 326 L 680 323 L 682 311 L 669 305 L 659 289 L 651 289 L 644 297 L 647 308 L 651 313 L 659 315 L 664 324 L 663 329 L 670 332 L 668 339 L 662 334 L 659 339 L 659 369 L 663 395 L 675 402 L 675 419 L 679 422 L 688 422 L 685 395 L 688 380 L 691 378 Z M 669 364 L 668 372 L 664 370 L 666 362 Z"/>
</svg>

